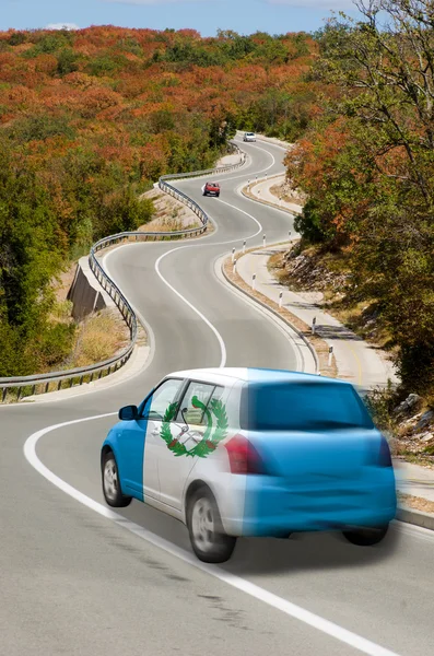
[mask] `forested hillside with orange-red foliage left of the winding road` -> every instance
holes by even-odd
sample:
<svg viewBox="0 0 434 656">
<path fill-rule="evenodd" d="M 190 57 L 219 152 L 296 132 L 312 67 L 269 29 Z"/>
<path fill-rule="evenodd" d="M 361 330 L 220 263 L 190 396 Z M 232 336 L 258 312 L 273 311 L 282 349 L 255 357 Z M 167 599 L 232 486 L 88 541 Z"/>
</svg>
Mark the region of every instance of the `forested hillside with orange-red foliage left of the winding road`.
<svg viewBox="0 0 434 656">
<path fill-rule="evenodd" d="M 68 352 L 52 277 L 149 220 L 138 195 L 160 175 L 211 166 L 237 127 L 303 133 L 315 54 L 305 34 L 0 33 L 0 376 Z"/>
</svg>

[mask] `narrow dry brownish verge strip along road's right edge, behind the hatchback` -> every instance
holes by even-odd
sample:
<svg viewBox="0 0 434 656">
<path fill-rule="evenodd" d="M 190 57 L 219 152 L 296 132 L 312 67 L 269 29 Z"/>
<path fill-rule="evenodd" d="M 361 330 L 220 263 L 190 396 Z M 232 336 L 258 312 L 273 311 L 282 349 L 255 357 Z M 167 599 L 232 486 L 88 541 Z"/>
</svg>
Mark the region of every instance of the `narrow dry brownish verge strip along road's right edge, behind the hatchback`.
<svg viewBox="0 0 434 656">
<path fill-rule="evenodd" d="M 253 248 L 250 250 L 259 250 L 259 249 Z M 329 347 L 328 347 L 327 342 L 324 341 L 324 339 L 319 338 L 318 336 L 313 335 L 310 327 L 307 326 L 307 324 L 302 321 L 298 317 L 293 315 L 286 308 L 280 308 L 279 304 L 274 303 L 274 301 L 271 301 L 271 298 L 269 298 L 268 296 L 265 296 L 260 292 L 254 291 L 251 289 L 251 286 L 248 285 L 238 273 L 236 273 L 236 272 L 234 273 L 232 257 L 228 257 L 224 261 L 223 270 L 224 270 L 224 274 L 226 276 L 226 278 L 236 288 L 238 288 L 239 290 L 242 290 L 244 292 L 247 292 L 247 294 L 249 296 L 251 296 L 253 298 L 256 298 L 257 301 L 260 301 L 261 303 L 267 305 L 269 308 L 277 312 L 283 320 L 285 320 L 286 323 L 292 325 L 294 328 L 296 328 L 296 330 L 298 330 L 298 332 L 301 332 L 303 335 L 303 337 L 314 348 L 314 350 L 318 356 L 319 371 L 321 372 L 321 374 L 324 376 L 330 376 L 332 378 L 336 378 L 338 376 L 338 368 L 336 365 L 335 356 L 332 358 L 331 366 L 328 365 Z"/>
</svg>

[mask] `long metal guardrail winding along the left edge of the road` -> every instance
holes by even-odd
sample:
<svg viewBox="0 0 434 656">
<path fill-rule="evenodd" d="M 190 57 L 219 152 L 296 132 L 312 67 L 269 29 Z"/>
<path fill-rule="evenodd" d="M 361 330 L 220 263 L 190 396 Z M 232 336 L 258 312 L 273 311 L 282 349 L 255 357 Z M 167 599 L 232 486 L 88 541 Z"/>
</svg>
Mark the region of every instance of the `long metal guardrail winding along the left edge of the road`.
<svg viewBox="0 0 434 656">
<path fill-rule="evenodd" d="M 1 403 L 3 403 L 7 400 L 8 393 L 12 394 L 15 397 L 16 401 L 20 401 L 26 396 L 34 396 L 35 394 L 46 394 L 56 389 L 60 390 L 62 388 L 64 389 L 68 387 L 75 387 L 77 385 L 82 385 L 83 383 L 92 383 L 95 379 L 95 377 L 96 379 L 99 379 L 102 376 L 108 376 L 109 374 L 116 372 L 121 366 L 124 366 L 126 362 L 128 362 L 137 341 L 137 317 L 131 305 L 128 303 L 127 298 L 124 296 L 122 292 L 119 290 L 115 281 L 112 280 L 112 278 L 104 271 L 96 257 L 96 254 L 103 248 L 108 248 L 114 244 L 119 244 L 120 242 L 126 242 L 130 239 L 134 239 L 136 242 L 155 242 L 157 239 L 163 241 L 177 239 L 179 237 L 195 237 L 203 234 L 207 230 L 209 222 L 208 214 L 195 200 L 192 200 L 192 198 L 190 198 L 183 191 L 179 191 L 178 189 L 169 185 L 166 180 L 179 180 L 189 177 L 203 176 L 208 174 L 226 173 L 227 171 L 234 171 L 235 168 L 239 168 L 246 162 L 246 154 L 243 151 L 241 151 L 236 144 L 231 143 L 230 145 L 235 152 L 239 153 L 239 163 L 231 164 L 221 168 L 210 168 L 207 171 L 197 171 L 193 173 L 164 175 L 159 180 L 159 187 L 163 191 L 169 194 L 171 196 L 189 207 L 195 212 L 195 214 L 197 214 L 197 216 L 201 221 L 200 227 L 192 227 L 175 232 L 122 232 L 118 233 L 117 235 L 104 237 L 103 239 L 99 239 L 98 242 L 96 242 L 96 244 L 92 246 L 91 253 L 89 255 L 90 268 L 93 274 L 95 276 L 96 280 L 99 282 L 101 286 L 115 302 L 115 305 L 119 309 L 124 320 L 130 329 L 130 342 L 128 347 L 126 347 L 117 355 L 114 355 L 108 360 L 104 360 L 103 362 L 97 362 L 96 364 L 92 364 L 90 366 L 77 367 L 59 372 L 50 372 L 47 374 L 35 374 L 32 376 L 12 376 L 7 378 L 0 378 Z M 69 384 L 62 387 L 64 382 Z"/>
</svg>

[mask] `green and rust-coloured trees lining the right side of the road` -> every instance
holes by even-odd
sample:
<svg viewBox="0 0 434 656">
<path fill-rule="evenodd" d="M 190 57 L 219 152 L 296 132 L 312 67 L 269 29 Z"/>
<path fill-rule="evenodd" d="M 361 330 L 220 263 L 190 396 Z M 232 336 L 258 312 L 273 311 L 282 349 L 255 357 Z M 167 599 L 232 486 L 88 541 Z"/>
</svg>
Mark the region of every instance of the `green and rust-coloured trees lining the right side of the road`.
<svg viewBox="0 0 434 656">
<path fill-rule="evenodd" d="M 312 79 L 327 85 L 328 98 L 286 157 L 289 178 L 307 196 L 295 226 L 302 247 L 344 265 L 348 301 L 375 309 L 400 395 L 432 405 L 432 9 L 407 0 L 360 5 L 361 21 L 342 14 L 317 35 Z"/>
</svg>

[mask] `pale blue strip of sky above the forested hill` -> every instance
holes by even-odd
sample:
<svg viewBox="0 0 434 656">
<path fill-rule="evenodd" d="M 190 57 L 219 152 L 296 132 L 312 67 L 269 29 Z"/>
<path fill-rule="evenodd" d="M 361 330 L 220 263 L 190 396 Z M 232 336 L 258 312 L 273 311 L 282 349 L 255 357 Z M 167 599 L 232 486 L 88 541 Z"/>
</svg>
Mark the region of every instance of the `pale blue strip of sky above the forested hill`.
<svg viewBox="0 0 434 656">
<path fill-rule="evenodd" d="M 316 31 L 332 10 L 357 15 L 352 0 L 0 0 L 0 31 L 117 25 L 284 34 Z"/>
</svg>

